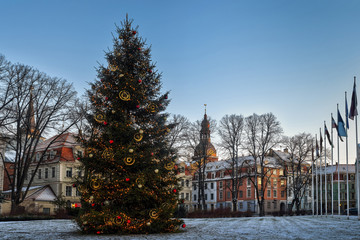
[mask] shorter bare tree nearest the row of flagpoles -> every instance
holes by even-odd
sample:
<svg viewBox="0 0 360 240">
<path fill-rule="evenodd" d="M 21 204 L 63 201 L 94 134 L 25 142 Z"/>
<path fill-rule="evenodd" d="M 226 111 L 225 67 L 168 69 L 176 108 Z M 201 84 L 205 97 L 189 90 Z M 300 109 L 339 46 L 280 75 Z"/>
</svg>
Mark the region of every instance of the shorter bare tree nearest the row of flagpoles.
<svg viewBox="0 0 360 240">
<path fill-rule="evenodd" d="M 288 179 L 291 179 L 287 188 L 293 193 L 290 210 L 295 205 L 296 213 L 299 214 L 301 202 L 311 183 L 311 154 L 314 139 L 309 133 L 300 133 L 284 139 L 289 153 L 289 159 L 284 162 L 284 167 Z"/>
</svg>

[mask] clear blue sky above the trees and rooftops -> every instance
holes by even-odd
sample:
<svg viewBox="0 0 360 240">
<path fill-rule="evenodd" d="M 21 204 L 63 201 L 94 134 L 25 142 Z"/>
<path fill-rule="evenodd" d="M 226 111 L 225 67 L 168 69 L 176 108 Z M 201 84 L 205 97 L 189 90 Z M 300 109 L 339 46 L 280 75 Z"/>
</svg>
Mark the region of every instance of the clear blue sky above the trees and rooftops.
<svg viewBox="0 0 360 240">
<path fill-rule="evenodd" d="M 171 91 L 169 112 L 272 112 L 286 135 L 315 134 L 337 103 L 344 115 L 360 76 L 359 10 L 356 0 L 0 0 L 0 53 L 81 94 L 128 13 Z"/>
</svg>

